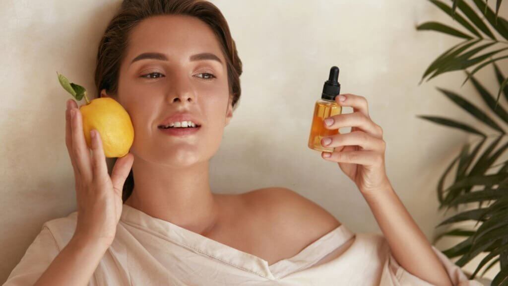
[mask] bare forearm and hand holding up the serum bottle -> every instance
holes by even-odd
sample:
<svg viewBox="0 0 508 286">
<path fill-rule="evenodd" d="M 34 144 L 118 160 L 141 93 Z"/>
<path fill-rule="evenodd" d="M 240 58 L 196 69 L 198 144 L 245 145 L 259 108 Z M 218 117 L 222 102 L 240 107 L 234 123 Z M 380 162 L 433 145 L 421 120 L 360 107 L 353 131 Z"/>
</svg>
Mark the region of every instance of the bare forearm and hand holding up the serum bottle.
<svg viewBox="0 0 508 286">
<path fill-rule="evenodd" d="M 333 152 L 322 152 L 322 158 L 337 162 L 357 185 L 402 268 L 433 285 L 452 285 L 431 244 L 388 180 L 383 129 L 370 118 L 367 100 L 343 94 L 336 96 L 335 101 L 353 107 L 353 113 L 330 117 L 323 122 L 325 128 L 351 127 L 351 132 L 322 138 L 323 146 L 334 148 Z"/>
</svg>

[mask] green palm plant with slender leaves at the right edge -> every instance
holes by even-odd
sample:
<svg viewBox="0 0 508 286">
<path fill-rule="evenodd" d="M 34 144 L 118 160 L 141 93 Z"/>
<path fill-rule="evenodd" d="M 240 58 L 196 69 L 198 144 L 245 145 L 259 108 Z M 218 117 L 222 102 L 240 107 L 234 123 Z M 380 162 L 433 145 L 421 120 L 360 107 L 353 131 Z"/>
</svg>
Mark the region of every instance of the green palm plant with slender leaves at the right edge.
<svg viewBox="0 0 508 286">
<path fill-rule="evenodd" d="M 462 85 L 470 81 L 475 91 L 471 96 L 479 96 L 488 106 L 487 110 L 482 110 L 465 97 L 438 88 L 440 93 L 483 126 L 477 128 L 454 119 L 419 116 L 474 135 L 473 142 L 466 142 L 444 170 L 437 184 L 437 197 L 439 210 L 446 208 L 448 211 L 453 207 L 458 211 L 459 206 L 471 203 L 478 203 L 478 208 L 462 211 L 438 224 L 448 225 L 451 230 L 436 237 L 433 243 L 443 236 L 464 237 L 462 242 L 443 253 L 449 258 L 460 256 L 455 263 L 463 267 L 480 253 L 487 252 L 469 278 L 473 279 L 485 268 L 481 274 L 483 276 L 499 262 L 500 271 L 494 277 L 492 285 L 508 285 L 508 160 L 497 162 L 508 150 L 508 142 L 498 147 L 508 129 L 508 106 L 499 101 L 501 94 L 508 101 L 508 77 L 503 75 L 497 65 L 508 59 L 508 21 L 498 15 L 502 0 L 496 0 L 495 12 L 488 6 L 488 0 L 468 0 L 472 5 L 465 0 L 450 0 L 448 4 L 439 0 L 429 1 L 452 17 L 459 28 L 439 22 L 425 22 L 418 25 L 417 30 L 436 31 L 464 41 L 439 55 L 424 72 L 420 83 L 426 78 L 428 81 L 446 72 L 462 70 L 465 73 Z M 475 73 L 487 66 L 493 69 L 499 83 L 497 96 L 491 94 L 474 77 Z M 495 117 L 500 123 L 493 120 Z M 487 132 L 492 130 L 496 134 L 488 135 Z M 492 137 L 493 141 L 482 148 Z M 452 174 L 454 166 L 457 167 L 455 174 Z M 447 178 L 453 179 L 453 183 L 445 187 Z M 476 221 L 476 224 L 472 229 L 457 226 L 457 223 L 464 221 Z"/>
</svg>

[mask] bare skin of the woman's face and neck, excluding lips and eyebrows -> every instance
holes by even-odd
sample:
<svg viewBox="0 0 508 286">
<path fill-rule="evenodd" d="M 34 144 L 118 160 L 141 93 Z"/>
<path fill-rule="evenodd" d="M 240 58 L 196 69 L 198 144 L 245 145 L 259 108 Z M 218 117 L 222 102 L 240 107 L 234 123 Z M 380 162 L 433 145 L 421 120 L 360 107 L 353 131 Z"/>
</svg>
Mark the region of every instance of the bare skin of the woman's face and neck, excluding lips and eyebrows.
<svg viewBox="0 0 508 286">
<path fill-rule="evenodd" d="M 169 61 L 131 64 L 145 52 L 164 53 Z M 215 54 L 223 64 L 189 61 L 202 52 Z M 211 28 L 197 18 L 148 18 L 131 32 L 116 98 L 136 132 L 131 148 L 136 184 L 125 204 L 196 233 L 213 228 L 219 210 L 210 190 L 209 160 L 232 118 L 225 63 Z M 108 96 L 105 90 L 101 96 Z M 186 137 L 161 132 L 157 126 L 176 112 L 195 115 L 201 130 Z"/>
</svg>

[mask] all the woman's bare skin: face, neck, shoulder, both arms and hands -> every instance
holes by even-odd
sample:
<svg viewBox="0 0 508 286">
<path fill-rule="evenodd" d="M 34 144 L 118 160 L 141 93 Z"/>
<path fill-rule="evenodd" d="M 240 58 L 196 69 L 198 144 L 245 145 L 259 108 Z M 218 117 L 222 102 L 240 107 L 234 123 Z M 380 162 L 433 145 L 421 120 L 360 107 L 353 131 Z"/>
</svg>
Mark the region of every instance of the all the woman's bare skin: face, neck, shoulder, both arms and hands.
<svg viewBox="0 0 508 286">
<path fill-rule="evenodd" d="M 142 60 L 140 53 L 160 52 L 169 61 Z M 209 186 L 209 160 L 217 152 L 224 128 L 232 119 L 226 66 L 216 61 L 190 62 L 189 56 L 209 52 L 225 63 L 212 30 L 188 16 L 157 16 L 132 31 L 122 60 L 115 98 L 130 114 L 135 140 L 107 173 L 100 134 L 92 138 L 90 155 L 77 103 L 68 101 L 66 145 L 76 177 L 78 221 L 69 244 L 36 285 L 86 285 L 114 240 L 121 210 L 121 189 L 132 166 L 136 186 L 125 204 L 210 239 L 253 254 L 269 265 L 291 258 L 310 243 L 340 226 L 329 212 L 282 187 L 242 194 L 214 194 Z M 149 77 L 149 73 L 156 72 Z M 203 73 L 213 74 L 215 77 Z M 367 101 L 345 95 L 343 106 L 354 112 L 337 115 L 326 128 L 352 127 L 330 136 L 336 147 L 325 160 L 358 186 L 383 231 L 397 262 L 435 285 L 451 285 L 430 244 L 410 217 L 386 176 L 382 129 L 368 116 Z M 175 112 L 197 116 L 194 136 L 168 136 L 157 126 Z M 324 123 L 325 124 L 325 123 Z M 323 145 L 324 142 L 322 142 Z M 418 261 L 414 257 L 418 257 Z"/>
</svg>

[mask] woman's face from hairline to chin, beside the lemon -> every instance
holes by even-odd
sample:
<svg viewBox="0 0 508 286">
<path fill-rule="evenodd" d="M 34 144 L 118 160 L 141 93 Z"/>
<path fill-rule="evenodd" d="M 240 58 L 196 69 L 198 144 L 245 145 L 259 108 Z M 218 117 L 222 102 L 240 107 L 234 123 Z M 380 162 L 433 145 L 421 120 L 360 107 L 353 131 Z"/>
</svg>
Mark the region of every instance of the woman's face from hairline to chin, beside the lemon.
<svg viewBox="0 0 508 286">
<path fill-rule="evenodd" d="M 232 117 L 226 60 L 219 45 L 211 28 L 190 16 L 147 18 L 131 31 L 117 100 L 134 125 L 134 155 L 182 167 L 215 154 Z M 133 62 L 143 53 L 161 53 L 167 60 Z M 190 59 L 201 53 L 213 54 L 220 62 Z M 167 117 L 181 112 L 201 122 L 196 133 L 174 136 L 158 128 Z"/>
</svg>

